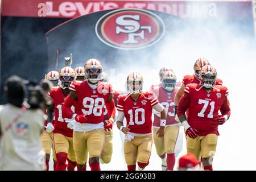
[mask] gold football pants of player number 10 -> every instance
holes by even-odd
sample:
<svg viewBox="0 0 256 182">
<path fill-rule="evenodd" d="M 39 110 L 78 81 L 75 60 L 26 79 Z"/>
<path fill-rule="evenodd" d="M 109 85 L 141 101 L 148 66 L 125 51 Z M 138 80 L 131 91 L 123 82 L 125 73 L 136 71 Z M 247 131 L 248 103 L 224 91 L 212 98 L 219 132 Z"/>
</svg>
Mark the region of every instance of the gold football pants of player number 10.
<svg viewBox="0 0 256 182">
<path fill-rule="evenodd" d="M 127 166 L 135 165 L 137 160 L 140 163 L 147 163 L 150 159 L 152 148 L 152 134 L 144 137 L 134 137 L 130 142 L 125 142 L 125 161 Z"/>
</svg>

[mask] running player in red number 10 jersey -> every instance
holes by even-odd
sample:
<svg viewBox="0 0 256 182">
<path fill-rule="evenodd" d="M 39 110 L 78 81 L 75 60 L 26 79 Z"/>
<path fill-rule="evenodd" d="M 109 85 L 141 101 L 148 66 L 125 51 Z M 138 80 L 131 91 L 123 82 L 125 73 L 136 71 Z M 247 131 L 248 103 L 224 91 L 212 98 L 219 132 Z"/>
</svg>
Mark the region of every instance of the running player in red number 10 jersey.
<svg viewBox="0 0 256 182">
<path fill-rule="evenodd" d="M 166 110 L 159 104 L 154 92 L 142 92 L 142 75 L 133 72 L 127 77 L 129 94 L 118 97 L 117 127 L 125 136 L 125 160 L 129 171 L 135 171 L 138 161 L 139 170 L 144 169 L 150 159 L 152 147 L 152 108 L 160 112 L 160 127 L 156 131 L 163 137 L 166 125 Z M 126 118 L 127 126 L 123 126 Z"/>
</svg>

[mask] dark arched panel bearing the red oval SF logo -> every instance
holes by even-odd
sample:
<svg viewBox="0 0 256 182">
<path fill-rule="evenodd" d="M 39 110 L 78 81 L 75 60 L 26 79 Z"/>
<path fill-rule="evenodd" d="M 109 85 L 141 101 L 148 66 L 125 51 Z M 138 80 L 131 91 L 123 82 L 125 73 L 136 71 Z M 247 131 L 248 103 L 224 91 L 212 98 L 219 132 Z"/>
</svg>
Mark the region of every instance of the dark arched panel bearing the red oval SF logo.
<svg viewBox="0 0 256 182">
<path fill-rule="evenodd" d="M 108 10 L 81 16 L 47 32 L 48 66 L 56 67 L 59 62 L 56 55 L 65 57 L 70 52 L 73 64 L 79 64 L 74 66 L 81 66 L 92 57 L 106 67 L 127 61 L 135 63 L 141 56 L 148 57 L 150 63 L 164 38 L 183 23 L 176 16 L 141 9 Z M 128 60 L 127 53 L 134 59 Z"/>
</svg>

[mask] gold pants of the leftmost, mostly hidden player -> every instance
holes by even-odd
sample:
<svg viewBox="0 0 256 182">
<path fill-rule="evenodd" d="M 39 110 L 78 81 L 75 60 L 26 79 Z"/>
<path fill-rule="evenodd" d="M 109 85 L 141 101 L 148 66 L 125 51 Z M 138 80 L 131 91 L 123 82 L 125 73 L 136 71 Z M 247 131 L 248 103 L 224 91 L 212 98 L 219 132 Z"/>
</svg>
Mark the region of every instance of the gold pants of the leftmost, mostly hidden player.
<svg viewBox="0 0 256 182">
<path fill-rule="evenodd" d="M 41 135 L 41 144 L 43 147 L 44 152 L 46 154 L 51 155 L 51 149 L 52 149 L 52 158 L 53 160 L 57 161 L 55 150 L 53 148 L 53 133 L 48 133 L 46 130 L 43 130 L 43 133 Z"/>
</svg>

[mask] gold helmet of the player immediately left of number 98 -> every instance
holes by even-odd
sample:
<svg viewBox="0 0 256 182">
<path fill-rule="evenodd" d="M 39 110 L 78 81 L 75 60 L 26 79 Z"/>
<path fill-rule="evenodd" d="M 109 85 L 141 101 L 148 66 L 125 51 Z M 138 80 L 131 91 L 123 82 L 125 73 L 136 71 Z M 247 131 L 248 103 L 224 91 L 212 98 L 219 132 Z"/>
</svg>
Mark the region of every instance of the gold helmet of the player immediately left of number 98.
<svg viewBox="0 0 256 182">
<path fill-rule="evenodd" d="M 69 85 L 75 80 L 75 72 L 71 67 L 64 67 L 59 72 L 59 78 L 61 81 L 61 88 L 68 89 Z"/>
</svg>

